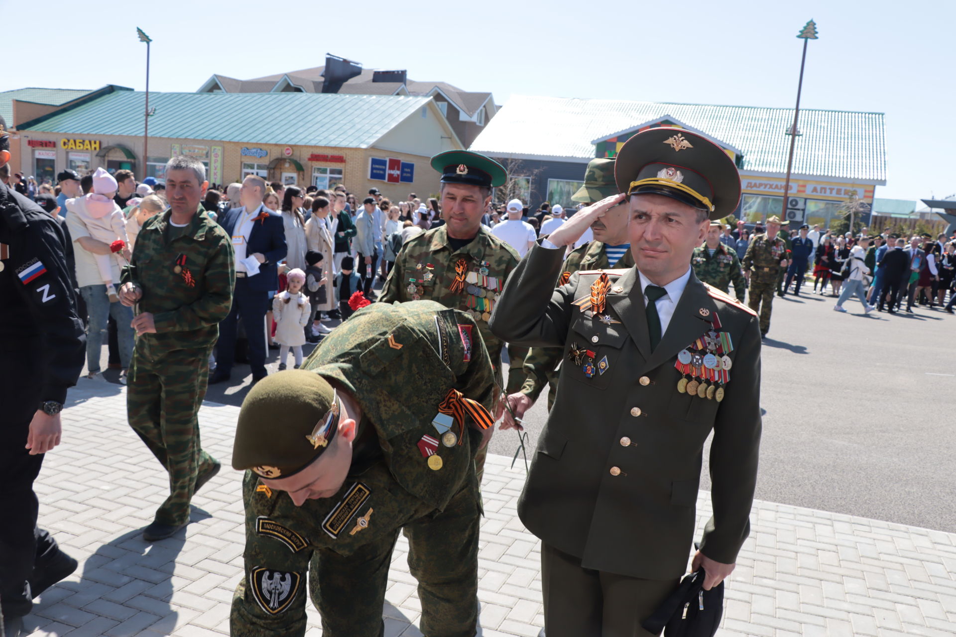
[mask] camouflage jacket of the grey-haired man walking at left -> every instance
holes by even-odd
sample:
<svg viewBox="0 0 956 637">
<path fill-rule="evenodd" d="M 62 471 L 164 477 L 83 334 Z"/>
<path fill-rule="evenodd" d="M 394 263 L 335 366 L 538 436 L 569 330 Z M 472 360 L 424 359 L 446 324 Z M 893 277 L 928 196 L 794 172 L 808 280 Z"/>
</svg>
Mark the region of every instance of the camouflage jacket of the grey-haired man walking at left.
<svg viewBox="0 0 956 637">
<path fill-rule="evenodd" d="M 232 307 L 235 254 L 221 225 L 200 207 L 185 228 L 171 210 L 146 220 L 122 282 L 142 289 L 141 312 L 152 312 L 156 333 L 139 338 L 158 351 L 211 348 Z"/>
</svg>

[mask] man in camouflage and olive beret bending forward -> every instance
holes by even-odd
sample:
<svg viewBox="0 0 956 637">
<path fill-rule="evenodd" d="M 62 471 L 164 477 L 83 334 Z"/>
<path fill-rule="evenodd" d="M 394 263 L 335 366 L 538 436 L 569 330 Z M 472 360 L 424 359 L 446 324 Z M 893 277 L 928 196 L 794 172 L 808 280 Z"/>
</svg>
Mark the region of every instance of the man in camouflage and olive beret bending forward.
<svg viewBox="0 0 956 637">
<path fill-rule="evenodd" d="M 379 637 L 400 530 L 424 635 L 475 634 L 474 457 L 496 397 L 480 333 L 470 315 L 431 301 L 377 303 L 326 336 L 302 370 L 250 390 L 232 456 L 249 470 L 233 637 L 304 635 L 307 596 L 325 637 Z"/>
</svg>

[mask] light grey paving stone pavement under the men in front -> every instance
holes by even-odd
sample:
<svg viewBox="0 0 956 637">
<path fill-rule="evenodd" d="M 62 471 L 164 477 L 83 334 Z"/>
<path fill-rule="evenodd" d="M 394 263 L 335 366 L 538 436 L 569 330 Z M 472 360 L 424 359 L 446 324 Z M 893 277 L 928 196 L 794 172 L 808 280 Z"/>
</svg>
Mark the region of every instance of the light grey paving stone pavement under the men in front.
<svg viewBox="0 0 956 637">
<path fill-rule="evenodd" d="M 238 409 L 206 403 L 204 447 L 224 469 L 193 500 L 193 522 L 165 541 L 141 528 L 167 493 L 163 469 L 126 423 L 125 389 L 80 380 L 63 413 L 63 443 L 36 483 L 40 525 L 80 562 L 26 618 L 35 635 L 228 634 L 242 574 L 239 472 L 229 469 Z M 543 626 L 538 541 L 515 506 L 520 460 L 489 456 L 479 554 L 480 634 L 534 637 Z M 838 485 L 835 485 L 838 488 Z M 942 494 L 941 494 L 942 495 Z M 698 498 L 698 527 L 710 515 Z M 952 637 L 956 534 L 754 502 L 750 538 L 728 581 L 720 635 Z M 385 635 L 421 635 L 415 580 L 403 538 L 393 556 Z M 321 635 L 309 604 L 308 637 Z M 588 637 L 588 636 L 582 636 Z"/>
</svg>

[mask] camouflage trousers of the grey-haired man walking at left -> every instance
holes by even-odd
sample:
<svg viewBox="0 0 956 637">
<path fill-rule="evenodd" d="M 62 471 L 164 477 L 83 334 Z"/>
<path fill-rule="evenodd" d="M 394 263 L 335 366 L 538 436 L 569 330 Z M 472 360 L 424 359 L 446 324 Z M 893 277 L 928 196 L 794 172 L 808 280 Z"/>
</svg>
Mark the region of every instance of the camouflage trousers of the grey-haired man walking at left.
<svg viewBox="0 0 956 637">
<path fill-rule="evenodd" d="M 215 462 L 200 444 L 197 419 L 208 376 L 208 348 L 160 350 L 148 336 L 137 338 L 126 411 L 130 427 L 169 473 L 169 497 L 156 512 L 163 524 L 189 521 L 196 477 Z"/>
</svg>

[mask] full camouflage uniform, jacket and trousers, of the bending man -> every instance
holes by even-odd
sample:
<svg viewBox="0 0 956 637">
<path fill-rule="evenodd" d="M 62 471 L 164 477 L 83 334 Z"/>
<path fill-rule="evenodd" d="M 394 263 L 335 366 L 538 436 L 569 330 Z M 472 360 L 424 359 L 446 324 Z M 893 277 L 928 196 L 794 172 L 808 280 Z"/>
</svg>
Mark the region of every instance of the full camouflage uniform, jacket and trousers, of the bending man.
<svg viewBox="0 0 956 637">
<path fill-rule="evenodd" d="M 475 634 L 481 507 L 474 457 L 481 434 L 468 417 L 461 444 L 437 445 L 437 470 L 420 443 L 426 435 L 443 439 L 432 420 L 449 390 L 491 406 L 493 372 L 479 332 L 464 312 L 430 301 L 376 303 L 313 351 L 303 369 L 337 382 L 362 409 L 352 466 L 335 496 L 300 507 L 246 472 L 246 573 L 232 601 L 234 637 L 304 635 L 307 591 L 325 637 L 382 635 L 400 530 L 419 582 L 422 633 Z M 269 380 L 286 373 L 302 372 Z M 456 423 L 449 431 L 462 430 Z"/>
</svg>

